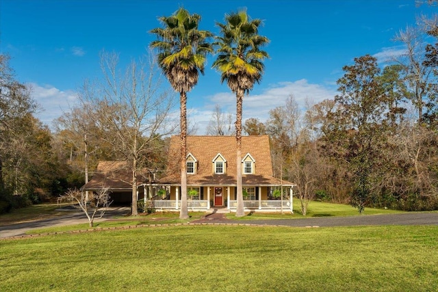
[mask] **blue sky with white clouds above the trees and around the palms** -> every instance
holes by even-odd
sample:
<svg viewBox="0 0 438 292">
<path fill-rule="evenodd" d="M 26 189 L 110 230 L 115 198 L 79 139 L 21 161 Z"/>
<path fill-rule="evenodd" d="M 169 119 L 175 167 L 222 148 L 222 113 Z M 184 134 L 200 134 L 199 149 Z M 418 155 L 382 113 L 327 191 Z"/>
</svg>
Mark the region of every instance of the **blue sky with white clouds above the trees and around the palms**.
<svg viewBox="0 0 438 292">
<path fill-rule="evenodd" d="M 403 49 L 392 41 L 400 29 L 415 25 L 420 14 L 438 8 L 415 0 L 0 0 L 0 52 L 12 57 L 16 78 L 29 83 L 41 105 L 38 118 L 51 125 L 76 103 L 75 90 L 84 79 L 101 76 L 99 53 L 114 51 L 122 62 L 147 53 L 159 26 L 157 17 L 179 7 L 201 14 L 201 29 L 218 33 L 224 14 L 246 8 L 261 18 L 259 34 L 267 36 L 270 55 L 260 85 L 244 98 L 244 120 L 264 122 L 268 111 L 294 94 L 300 105 L 336 94 L 342 67 L 370 54 L 383 61 Z M 210 69 L 188 94 L 190 122 L 205 134 L 211 109 L 235 113 L 235 96 Z"/>
</svg>

